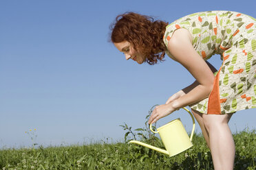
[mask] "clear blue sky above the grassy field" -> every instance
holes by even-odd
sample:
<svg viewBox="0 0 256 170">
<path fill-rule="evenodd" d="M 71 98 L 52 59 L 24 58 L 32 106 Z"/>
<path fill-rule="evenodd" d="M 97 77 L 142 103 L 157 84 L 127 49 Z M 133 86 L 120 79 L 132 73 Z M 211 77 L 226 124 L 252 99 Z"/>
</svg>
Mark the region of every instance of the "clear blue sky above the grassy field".
<svg viewBox="0 0 256 170">
<path fill-rule="evenodd" d="M 0 1 L 0 148 L 122 141 L 119 126 L 143 127 L 149 108 L 193 82 L 178 63 L 125 60 L 109 25 L 133 11 L 171 23 L 186 14 L 231 10 L 256 16 L 256 1 Z M 220 56 L 209 60 L 217 68 Z M 255 109 L 237 112 L 232 132 L 255 128 Z M 179 114 L 180 113 L 180 114 Z M 189 115 L 175 112 L 159 125 Z M 196 125 L 196 132 L 201 132 Z"/>
</svg>

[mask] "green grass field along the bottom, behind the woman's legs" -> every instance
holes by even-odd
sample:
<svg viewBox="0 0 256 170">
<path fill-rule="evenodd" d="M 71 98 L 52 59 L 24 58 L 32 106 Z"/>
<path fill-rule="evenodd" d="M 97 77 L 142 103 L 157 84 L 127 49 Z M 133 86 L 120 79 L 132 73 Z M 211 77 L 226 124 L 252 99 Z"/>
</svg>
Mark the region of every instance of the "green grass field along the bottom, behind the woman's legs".
<svg viewBox="0 0 256 170">
<path fill-rule="evenodd" d="M 239 132 L 233 136 L 236 145 L 234 169 L 256 169 L 255 130 Z M 142 141 L 163 147 L 161 141 L 155 136 Z M 202 135 L 194 134 L 193 147 L 171 158 L 146 147 L 127 143 L 96 143 L 36 149 L 31 147 L 30 149 L 1 149 L 0 169 L 201 170 L 213 169 L 213 162 Z"/>
</svg>

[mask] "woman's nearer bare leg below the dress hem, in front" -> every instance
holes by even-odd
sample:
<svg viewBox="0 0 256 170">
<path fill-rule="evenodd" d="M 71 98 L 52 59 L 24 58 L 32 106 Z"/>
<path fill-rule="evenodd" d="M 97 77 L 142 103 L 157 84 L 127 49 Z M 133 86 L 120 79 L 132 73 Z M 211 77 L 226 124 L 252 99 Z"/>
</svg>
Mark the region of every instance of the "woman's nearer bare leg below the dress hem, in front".
<svg viewBox="0 0 256 170">
<path fill-rule="evenodd" d="M 228 121 L 232 114 L 203 114 L 206 130 L 209 132 L 211 156 L 215 170 L 233 169 L 235 143 Z"/>
</svg>

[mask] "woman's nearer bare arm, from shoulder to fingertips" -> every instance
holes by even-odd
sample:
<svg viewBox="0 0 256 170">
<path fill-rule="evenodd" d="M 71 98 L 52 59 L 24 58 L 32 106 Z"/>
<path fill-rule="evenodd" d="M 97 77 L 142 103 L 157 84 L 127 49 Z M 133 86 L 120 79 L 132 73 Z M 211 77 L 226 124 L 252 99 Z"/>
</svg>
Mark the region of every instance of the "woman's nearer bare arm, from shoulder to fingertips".
<svg viewBox="0 0 256 170">
<path fill-rule="evenodd" d="M 179 108 L 209 97 L 213 88 L 213 72 L 202 59 L 202 56 L 193 48 L 192 36 L 188 30 L 177 29 L 169 40 L 168 49 L 174 60 L 180 62 L 195 77 L 196 82 L 184 88 L 185 95 L 169 102 L 169 104 L 157 106 L 151 114 L 149 123 L 154 123 Z"/>
</svg>

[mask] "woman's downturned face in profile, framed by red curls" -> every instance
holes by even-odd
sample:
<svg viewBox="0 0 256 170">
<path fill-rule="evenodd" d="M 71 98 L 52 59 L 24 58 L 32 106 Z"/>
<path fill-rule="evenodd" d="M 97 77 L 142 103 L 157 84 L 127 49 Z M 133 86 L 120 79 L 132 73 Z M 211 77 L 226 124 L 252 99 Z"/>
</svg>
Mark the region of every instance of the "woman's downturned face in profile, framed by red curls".
<svg viewBox="0 0 256 170">
<path fill-rule="evenodd" d="M 131 58 L 132 60 L 138 62 L 138 64 L 145 62 L 146 58 L 142 55 L 142 53 L 136 51 L 130 42 L 116 42 L 114 45 L 119 51 L 125 54 L 126 60 Z"/>
</svg>

